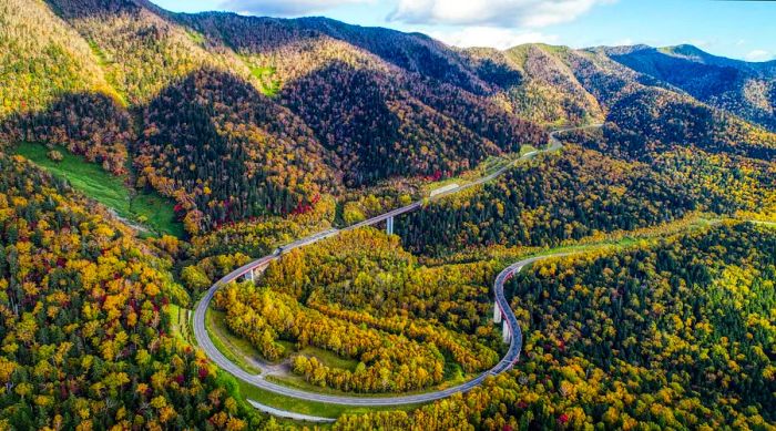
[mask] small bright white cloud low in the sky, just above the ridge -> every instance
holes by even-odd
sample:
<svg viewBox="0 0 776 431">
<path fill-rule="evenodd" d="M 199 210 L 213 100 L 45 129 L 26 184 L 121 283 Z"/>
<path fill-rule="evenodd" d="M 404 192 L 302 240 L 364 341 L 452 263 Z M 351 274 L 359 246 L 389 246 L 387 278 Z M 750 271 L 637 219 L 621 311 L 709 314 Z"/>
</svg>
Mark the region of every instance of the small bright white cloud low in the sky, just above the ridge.
<svg viewBox="0 0 776 431">
<path fill-rule="evenodd" d="M 442 42 L 461 48 L 491 47 L 512 48 L 522 43 L 553 43 L 558 37 L 537 31 L 515 31 L 494 27 L 466 27 L 455 31 L 430 31 L 429 35 Z"/>
</svg>

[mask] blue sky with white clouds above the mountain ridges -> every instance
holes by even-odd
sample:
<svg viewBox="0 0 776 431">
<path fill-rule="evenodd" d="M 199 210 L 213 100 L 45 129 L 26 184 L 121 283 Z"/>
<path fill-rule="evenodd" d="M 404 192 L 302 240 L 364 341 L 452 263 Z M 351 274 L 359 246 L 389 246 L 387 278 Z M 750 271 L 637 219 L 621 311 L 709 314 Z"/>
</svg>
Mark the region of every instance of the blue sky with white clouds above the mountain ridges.
<svg viewBox="0 0 776 431">
<path fill-rule="evenodd" d="M 572 48 L 694 44 L 716 55 L 776 60 L 776 1 L 713 0 L 152 0 L 175 12 L 323 16 L 419 31 L 458 47 L 544 42 Z"/>
</svg>

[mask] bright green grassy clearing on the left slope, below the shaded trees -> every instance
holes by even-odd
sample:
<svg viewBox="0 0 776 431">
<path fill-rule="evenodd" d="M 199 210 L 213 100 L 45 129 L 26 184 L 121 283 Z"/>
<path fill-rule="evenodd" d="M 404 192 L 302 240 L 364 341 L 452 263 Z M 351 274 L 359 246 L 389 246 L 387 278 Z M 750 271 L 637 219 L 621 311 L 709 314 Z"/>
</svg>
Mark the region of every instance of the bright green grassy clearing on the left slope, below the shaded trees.
<svg viewBox="0 0 776 431">
<path fill-rule="evenodd" d="M 147 227 L 156 235 L 183 236 L 183 225 L 175 220 L 169 199 L 156 193 L 135 193 L 124 184 L 125 178 L 113 176 L 64 148 L 57 150 L 64 157 L 61 162 L 49 158 L 49 148 L 42 144 L 22 143 L 14 153 L 67 179 L 74 189 L 112 208 L 120 217 Z"/>
</svg>

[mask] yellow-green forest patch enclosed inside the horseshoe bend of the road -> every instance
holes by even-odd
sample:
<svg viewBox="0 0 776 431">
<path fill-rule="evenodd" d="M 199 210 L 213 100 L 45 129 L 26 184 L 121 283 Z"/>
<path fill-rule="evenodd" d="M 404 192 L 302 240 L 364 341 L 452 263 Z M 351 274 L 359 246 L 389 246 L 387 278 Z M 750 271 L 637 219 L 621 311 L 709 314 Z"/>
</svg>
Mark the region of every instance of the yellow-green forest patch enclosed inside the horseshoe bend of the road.
<svg viewBox="0 0 776 431">
<path fill-rule="evenodd" d="M 473 373 L 498 361 L 498 335 L 481 325 L 492 273 L 489 263 L 422 267 L 397 238 L 363 229 L 288 254 L 256 287 L 219 290 L 214 306 L 266 359 L 292 341 L 359 362 L 350 372 L 296 355 L 294 371 L 313 384 L 401 392 L 441 383 L 446 369 Z"/>
</svg>

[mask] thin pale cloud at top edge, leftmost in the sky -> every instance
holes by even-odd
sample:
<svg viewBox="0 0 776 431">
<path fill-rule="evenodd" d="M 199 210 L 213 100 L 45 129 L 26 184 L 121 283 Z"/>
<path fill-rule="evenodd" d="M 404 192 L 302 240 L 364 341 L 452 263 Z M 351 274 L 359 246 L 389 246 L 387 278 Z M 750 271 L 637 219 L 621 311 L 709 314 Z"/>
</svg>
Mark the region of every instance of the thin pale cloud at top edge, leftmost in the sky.
<svg viewBox="0 0 776 431">
<path fill-rule="evenodd" d="M 225 0 L 221 8 L 243 14 L 296 17 L 318 13 L 346 4 L 370 3 L 371 0 Z"/>
</svg>

